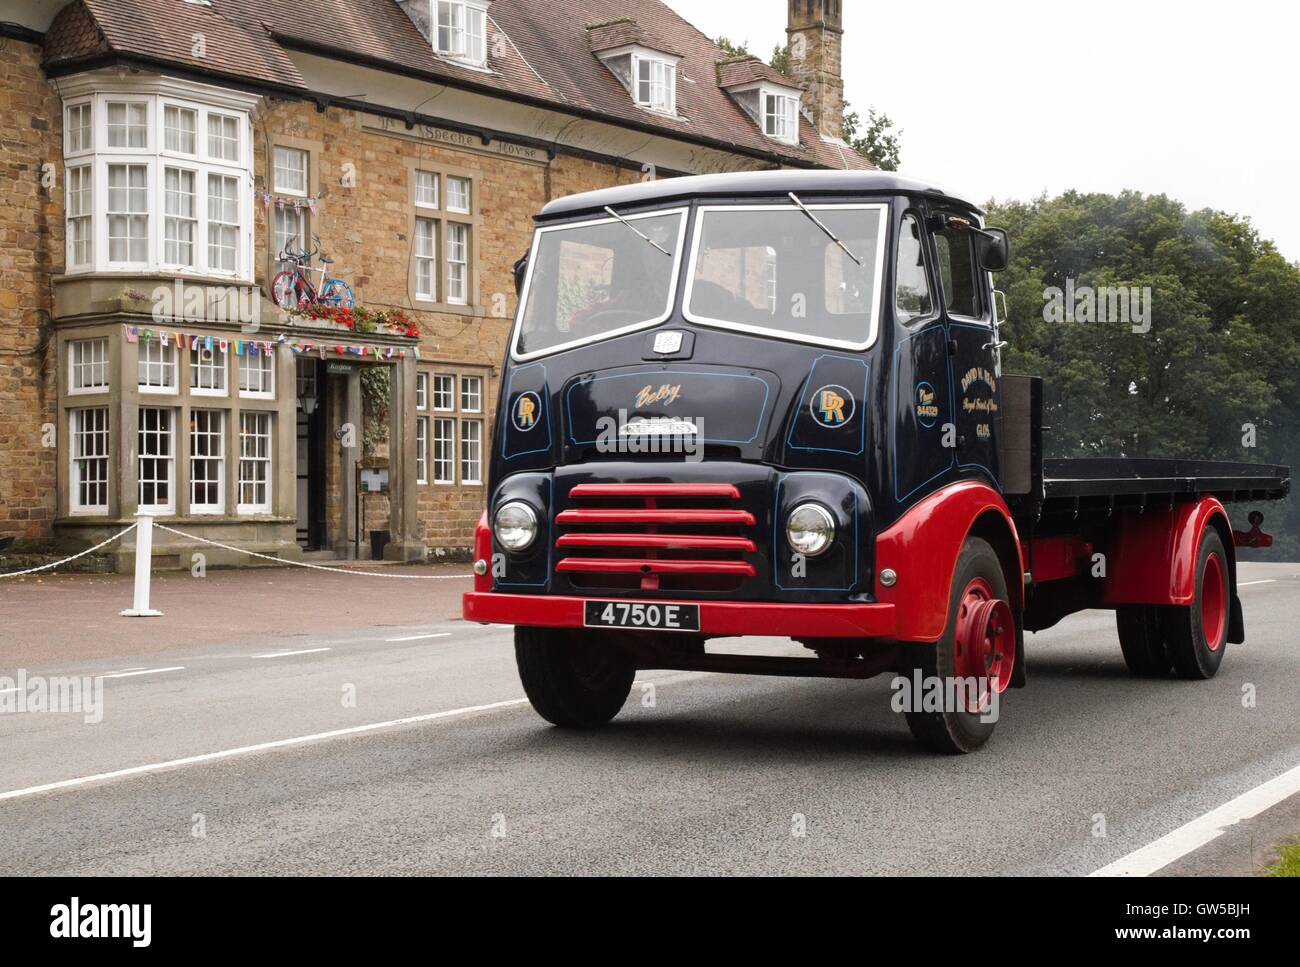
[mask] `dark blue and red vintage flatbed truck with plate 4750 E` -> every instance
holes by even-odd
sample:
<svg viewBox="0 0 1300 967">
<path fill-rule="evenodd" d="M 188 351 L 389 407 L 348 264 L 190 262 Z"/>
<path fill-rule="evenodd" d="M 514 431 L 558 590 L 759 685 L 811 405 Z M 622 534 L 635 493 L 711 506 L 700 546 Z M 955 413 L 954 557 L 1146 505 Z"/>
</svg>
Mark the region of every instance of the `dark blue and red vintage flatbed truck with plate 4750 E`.
<svg viewBox="0 0 1300 967">
<path fill-rule="evenodd" d="M 894 672 L 963 684 L 902 711 L 966 753 L 1026 684 L 1024 633 L 1086 608 L 1132 672 L 1213 676 L 1245 634 L 1225 504 L 1290 471 L 1043 459 L 1041 382 L 1001 368 L 1006 260 L 970 201 L 888 173 L 550 203 L 463 608 L 516 626 L 536 710 L 603 724 L 638 668 Z M 706 649 L 737 636 L 809 654 Z"/>
</svg>

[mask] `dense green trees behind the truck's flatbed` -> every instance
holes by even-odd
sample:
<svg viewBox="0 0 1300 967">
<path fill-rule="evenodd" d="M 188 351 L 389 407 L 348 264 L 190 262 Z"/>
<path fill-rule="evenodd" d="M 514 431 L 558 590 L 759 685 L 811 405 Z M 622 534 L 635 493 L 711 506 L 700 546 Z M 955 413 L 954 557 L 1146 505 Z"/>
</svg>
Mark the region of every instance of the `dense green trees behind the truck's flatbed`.
<svg viewBox="0 0 1300 967">
<path fill-rule="evenodd" d="M 996 279 L 1008 296 L 1004 365 L 1044 377 L 1049 456 L 1300 458 L 1300 265 L 1248 221 L 1165 195 L 1071 191 L 989 203 L 988 222 L 1011 237 Z M 1049 321 L 1052 290 L 1067 279 L 1149 289 L 1149 331 Z M 1290 504 L 1261 509 L 1274 556 L 1295 559 Z M 1245 526 L 1244 509 L 1232 516 Z"/>
</svg>

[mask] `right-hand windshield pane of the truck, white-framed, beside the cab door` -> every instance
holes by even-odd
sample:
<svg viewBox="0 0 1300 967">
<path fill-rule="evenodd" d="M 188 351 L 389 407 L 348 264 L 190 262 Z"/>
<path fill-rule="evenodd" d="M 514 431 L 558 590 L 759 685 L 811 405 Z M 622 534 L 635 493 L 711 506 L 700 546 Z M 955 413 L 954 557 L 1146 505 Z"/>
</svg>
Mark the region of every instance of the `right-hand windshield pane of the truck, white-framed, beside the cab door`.
<svg viewBox="0 0 1300 967">
<path fill-rule="evenodd" d="M 794 205 L 701 209 L 686 318 L 845 348 L 868 346 L 876 334 L 885 207 L 809 209 L 815 218 Z"/>
</svg>

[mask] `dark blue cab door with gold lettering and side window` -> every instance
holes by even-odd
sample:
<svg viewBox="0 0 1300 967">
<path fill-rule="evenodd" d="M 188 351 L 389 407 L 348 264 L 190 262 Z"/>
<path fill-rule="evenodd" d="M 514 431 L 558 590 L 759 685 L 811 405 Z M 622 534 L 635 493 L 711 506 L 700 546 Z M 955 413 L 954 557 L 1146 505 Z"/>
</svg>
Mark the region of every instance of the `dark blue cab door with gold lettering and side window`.
<svg viewBox="0 0 1300 967">
<path fill-rule="evenodd" d="M 997 428 L 1001 376 L 989 276 L 979 265 L 976 235 L 966 212 L 937 209 L 930 220 L 949 368 L 958 472 L 987 476 L 1000 486 Z"/>
</svg>

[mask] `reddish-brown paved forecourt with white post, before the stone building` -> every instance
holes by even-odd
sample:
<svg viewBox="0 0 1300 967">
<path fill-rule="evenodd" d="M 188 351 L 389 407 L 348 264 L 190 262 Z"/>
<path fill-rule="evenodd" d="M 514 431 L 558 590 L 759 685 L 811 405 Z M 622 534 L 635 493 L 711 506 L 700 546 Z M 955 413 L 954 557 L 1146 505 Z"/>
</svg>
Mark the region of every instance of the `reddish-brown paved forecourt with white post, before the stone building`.
<svg viewBox="0 0 1300 967">
<path fill-rule="evenodd" d="M 460 617 L 468 564 L 376 567 L 407 581 L 306 568 L 250 568 L 153 576 L 162 617 L 121 617 L 130 574 L 34 574 L 0 581 L 0 669 L 82 658 L 121 658 L 203 642 L 406 626 Z M 456 577 L 463 576 L 463 577 Z"/>
</svg>

